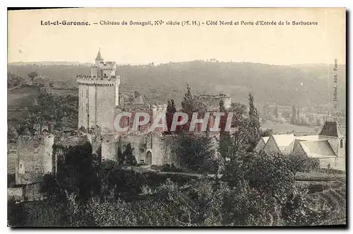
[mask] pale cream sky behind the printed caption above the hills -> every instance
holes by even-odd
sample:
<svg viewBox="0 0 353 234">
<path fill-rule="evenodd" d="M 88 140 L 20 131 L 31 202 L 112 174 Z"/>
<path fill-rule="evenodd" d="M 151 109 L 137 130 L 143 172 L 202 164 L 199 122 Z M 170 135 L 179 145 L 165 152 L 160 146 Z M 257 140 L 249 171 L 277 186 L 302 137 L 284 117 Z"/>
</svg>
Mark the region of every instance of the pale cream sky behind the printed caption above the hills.
<svg viewBox="0 0 353 234">
<path fill-rule="evenodd" d="M 291 25 L 100 25 L 100 21 L 289 21 Z M 91 25 L 41 25 L 88 21 Z M 292 25 L 317 21 L 318 25 Z M 93 23 L 98 23 L 97 25 Z M 8 12 L 8 62 L 148 64 L 211 59 L 346 62 L 345 8 L 76 8 Z"/>
</svg>

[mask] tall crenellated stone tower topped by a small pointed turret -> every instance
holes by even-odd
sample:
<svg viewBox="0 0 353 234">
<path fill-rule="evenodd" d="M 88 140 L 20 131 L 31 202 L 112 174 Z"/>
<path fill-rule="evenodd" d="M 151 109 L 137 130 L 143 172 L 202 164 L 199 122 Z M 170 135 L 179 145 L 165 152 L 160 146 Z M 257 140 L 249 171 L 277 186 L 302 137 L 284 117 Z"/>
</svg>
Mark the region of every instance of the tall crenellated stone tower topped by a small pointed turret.
<svg viewBox="0 0 353 234">
<path fill-rule="evenodd" d="M 90 75 L 77 76 L 78 128 L 114 129 L 115 107 L 119 105 L 120 78 L 116 62 L 104 62 L 100 51 Z"/>
</svg>

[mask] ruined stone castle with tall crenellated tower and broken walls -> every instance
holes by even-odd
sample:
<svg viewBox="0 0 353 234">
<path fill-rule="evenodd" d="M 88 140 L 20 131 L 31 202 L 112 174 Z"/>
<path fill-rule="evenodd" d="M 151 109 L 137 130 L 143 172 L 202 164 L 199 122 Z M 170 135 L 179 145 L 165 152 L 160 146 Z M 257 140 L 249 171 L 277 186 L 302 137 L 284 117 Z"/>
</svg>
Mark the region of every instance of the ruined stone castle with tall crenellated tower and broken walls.
<svg viewBox="0 0 353 234">
<path fill-rule="evenodd" d="M 120 78 L 116 76 L 116 62 L 105 62 L 99 51 L 90 75 L 77 76 L 78 83 L 78 131 L 54 133 L 39 131 L 35 136 L 19 136 L 16 161 L 16 184 L 35 185 L 45 174 L 55 174 L 58 158 L 77 146 L 90 145 L 90 153 L 104 160 L 117 160 L 118 149 L 131 144 L 138 163 L 145 165 L 179 164 L 172 153 L 175 135 L 164 135 L 160 131 L 116 131 L 114 118 L 121 112 L 132 113 L 122 124 L 132 127 L 133 113 L 147 112 L 165 115 L 167 105 L 151 105 L 138 95 L 133 100 L 119 92 Z M 229 95 L 198 95 L 210 109 L 217 110 L 220 100 L 230 107 Z M 216 141 L 215 141 L 216 142 Z"/>
</svg>

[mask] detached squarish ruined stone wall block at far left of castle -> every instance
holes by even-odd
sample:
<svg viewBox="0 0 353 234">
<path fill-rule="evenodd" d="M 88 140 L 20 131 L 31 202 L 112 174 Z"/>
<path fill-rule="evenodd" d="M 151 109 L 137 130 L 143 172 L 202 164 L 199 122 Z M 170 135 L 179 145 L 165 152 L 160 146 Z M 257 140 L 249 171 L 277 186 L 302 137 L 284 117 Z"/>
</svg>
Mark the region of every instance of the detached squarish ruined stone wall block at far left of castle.
<svg viewBox="0 0 353 234">
<path fill-rule="evenodd" d="M 52 172 L 54 136 L 19 136 L 16 163 L 16 184 L 41 182 L 45 173 Z"/>
</svg>

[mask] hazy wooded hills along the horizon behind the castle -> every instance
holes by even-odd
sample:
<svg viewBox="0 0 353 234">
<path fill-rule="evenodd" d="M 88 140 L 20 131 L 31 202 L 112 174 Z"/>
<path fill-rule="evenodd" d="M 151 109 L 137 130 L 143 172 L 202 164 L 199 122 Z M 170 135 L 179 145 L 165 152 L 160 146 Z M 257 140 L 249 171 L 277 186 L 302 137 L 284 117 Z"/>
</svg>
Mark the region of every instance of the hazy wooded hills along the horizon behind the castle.
<svg viewBox="0 0 353 234">
<path fill-rule="evenodd" d="M 76 75 L 90 74 L 90 64 L 77 62 L 33 62 L 8 64 L 8 71 L 25 77 L 31 71 L 47 76 L 54 83 L 76 86 Z M 345 106 L 346 66 L 339 65 L 337 75 L 340 105 Z M 329 73 L 329 74 L 328 74 Z M 274 66 L 238 62 L 170 62 L 157 66 L 119 65 L 121 90 L 137 90 L 155 103 L 174 98 L 179 105 L 186 83 L 194 93 L 229 93 L 232 100 L 247 102 L 253 93 L 255 103 L 263 105 L 325 105 L 333 97 L 333 64 Z M 329 75 L 329 78 L 328 78 Z"/>
</svg>

